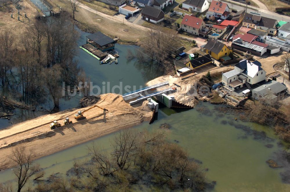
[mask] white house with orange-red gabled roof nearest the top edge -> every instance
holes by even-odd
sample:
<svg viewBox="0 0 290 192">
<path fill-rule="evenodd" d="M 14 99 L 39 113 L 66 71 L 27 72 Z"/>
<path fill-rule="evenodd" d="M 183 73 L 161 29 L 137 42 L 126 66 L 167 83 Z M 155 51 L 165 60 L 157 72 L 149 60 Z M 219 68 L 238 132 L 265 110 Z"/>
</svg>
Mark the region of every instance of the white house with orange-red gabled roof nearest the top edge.
<svg viewBox="0 0 290 192">
<path fill-rule="evenodd" d="M 230 15 L 229 6 L 221 1 L 211 1 L 211 5 L 209 6 L 209 10 L 206 12 L 206 18 L 212 19 L 220 18 L 227 19 Z"/>
</svg>

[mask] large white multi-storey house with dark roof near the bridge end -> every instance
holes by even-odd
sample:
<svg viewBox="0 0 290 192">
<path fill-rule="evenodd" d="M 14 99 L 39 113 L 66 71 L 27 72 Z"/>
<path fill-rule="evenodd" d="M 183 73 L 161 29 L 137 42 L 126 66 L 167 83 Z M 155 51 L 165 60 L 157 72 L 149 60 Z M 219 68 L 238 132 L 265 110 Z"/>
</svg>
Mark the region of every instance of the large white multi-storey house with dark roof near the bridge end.
<svg viewBox="0 0 290 192">
<path fill-rule="evenodd" d="M 249 84 L 253 85 L 265 79 L 266 72 L 261 68 L 261 63 L 245 59 L 236 64 L 232 71 L 222 74 L 222 84 L 232 91 L 242 88 L 244 84 L 250 87 Z"/>
</svg>

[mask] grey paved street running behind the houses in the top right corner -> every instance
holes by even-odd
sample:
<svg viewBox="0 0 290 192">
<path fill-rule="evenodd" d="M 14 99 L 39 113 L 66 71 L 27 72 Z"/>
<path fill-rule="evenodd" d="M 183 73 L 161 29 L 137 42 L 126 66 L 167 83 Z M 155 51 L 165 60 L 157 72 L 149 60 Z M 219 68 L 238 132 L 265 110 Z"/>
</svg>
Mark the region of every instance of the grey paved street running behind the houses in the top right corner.
<svg viewBox="0 0 290 192">
<path fill-rule="evenodd" d="M 212 0 L 208 0 L 208 1 L 211 2 Z M 237 11 L 246 9 L 245 7 L 241 7 L 240 6 L 240 5 L 246 6 L 246 4 L 244 4 L 244 3 L 240 3 L 240 2 L 237 2 L 237 1 L 231 1 L 231 0 L 226 0 L 226 1 L 222 1 L 222 2 L 227 3 L 230 9 L 235 9 Z M 232 4 L 232 3 L 229 3 L 229 2 L 234 2 L 234 3 L 240 4 L 240 5 L 235 5 L 235 4 Z M 267 18 L 271 18 L 271 19 L 276 19 L 278 22 L 279 21 L 290 21 L 290 17 L 289 16 L 280 15 L 278 13 L 271 12 L 269 10 L 264 10 L 264 9 L 261 9 L 261 8 L 256 8 L 256 7 L 251 8 L 251 7 L 252 7 L 251 5 L 248 5 L 247 13 L 251 13 L 251 12 L 258 13 L 261 16 L 264 16 L 264 17 L 267 17 Z"/>
</svg>

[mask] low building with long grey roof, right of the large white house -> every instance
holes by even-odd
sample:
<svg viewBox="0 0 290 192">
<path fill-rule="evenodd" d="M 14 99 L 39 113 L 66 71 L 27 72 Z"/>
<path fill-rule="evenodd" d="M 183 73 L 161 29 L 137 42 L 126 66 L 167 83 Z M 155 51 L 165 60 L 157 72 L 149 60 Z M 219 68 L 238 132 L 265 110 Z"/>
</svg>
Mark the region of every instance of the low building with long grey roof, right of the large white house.
<svg viewBox="0 0 290 192">
<path fill-rule="evenodd" d="M 278 81 L 269 81 L 252 90 L 252 97 L 267 104 L 274 104 L 287 92 L 287 87 Z"/>
</svg>

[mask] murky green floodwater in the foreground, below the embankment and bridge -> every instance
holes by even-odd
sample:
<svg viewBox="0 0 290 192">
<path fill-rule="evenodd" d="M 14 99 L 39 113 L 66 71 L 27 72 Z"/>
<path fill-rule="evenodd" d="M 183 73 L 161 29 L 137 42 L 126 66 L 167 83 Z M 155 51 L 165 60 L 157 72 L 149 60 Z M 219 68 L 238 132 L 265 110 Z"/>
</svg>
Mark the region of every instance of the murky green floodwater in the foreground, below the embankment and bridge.
<svg viewBox="0 0 290 192">
<path fill-rule="evenodd" d="M 143 123 L 132 129 L 137 131 L 159 129 L 162 123 L 170 125 L 169 142 L 184 147 L 190 156 L 208 170 L 206 177 L 217 181 L 214 191 L 289 191 L 290 185 L 282 182 L 281 173 L 289 163 L 279 156 L 284 149 L 280 140 L 267 126 L 235 121 L 233 115 L 224 115 L 217 106 L 200 103 L 195 109 L 174 113 L 161 108 L 158 120 L 148 125 Z M 97 146 L 110 150 L 110 139 L 106 135 L 95 142 Z M 73 166 L 74 159 L 86 159 L 87 146 L 91 142 L 77 145 L 64 151 L 40 158 L 36 162 L 44 167 L 46 176 L 66 171 Z M 270 147 L 269 147 L 270 146 Z M 283 167 L 270 168 L 267 160 L 273 159 Z M 0 172 L 0 180 L 14 178 L 11 169 Z"/>
</svg>

